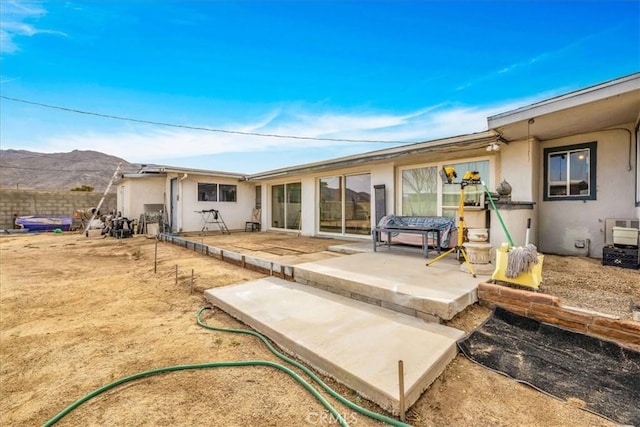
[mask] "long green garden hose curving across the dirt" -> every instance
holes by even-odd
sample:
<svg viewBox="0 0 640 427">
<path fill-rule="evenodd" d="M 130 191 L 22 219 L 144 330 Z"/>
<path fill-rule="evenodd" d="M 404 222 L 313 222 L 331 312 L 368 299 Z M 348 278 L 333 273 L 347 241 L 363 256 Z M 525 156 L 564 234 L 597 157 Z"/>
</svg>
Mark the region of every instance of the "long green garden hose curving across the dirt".
<svg viewBox="0 0 640 427">
<path fill-rule="evenodd" d="M 200 316 L 202 315 L 202 312 L 204 312 L 205 310 L 211 310 L 211 307 L 203 307 L 198 311 L 198 314 L 196 315 L 196 320 L 199 326 L 202 326 L 203 328 L 206 329 L 210 329 L 213 331 L 220 331 L 220 332 L 235 332 L 235 333 L 242 333 L 242 334 L 248 334 L 248 335 L 253 335 L 256 336 L 258 338 L 260 338 L 260 340 L 262 340 L 262 342 L 267 346 L 267 348 L 276 356 L 278 356 L 280 359 L 290 363 L 291 365 L 301 369 L 305 374 L 307 374 L 309 377 L 311 377 L 318 385 L 320 385 L 327 393 L 329 393 L 331 396 L 333 396 L 334 398 L 336 398 L 337 400 L 339 400 L 341 403 L 343 403 L 344 405 L 348 406 L 349 408 L 353 409 L 354 411 L 366 415 L 370 418 L 374 418 L 378 421 L 382 421 L 384 423 L 390 424 L 392 426 L 397 426 L 397 427 L 410 427 L 408 424 L 405 424 L 401 421 L 395 420 L 393 418 L 389 418 L 387 416 L 378 414 L 376 412 L 373 411 L 369 411 L 366 408 L 362 408 L 361 406 L 356 405 L 355 403 L 345 399 L 343 396 L 341 396 L 340 394 L 338 394 L 335 390 L 333 390 L 331 387 L 329 387 L 328 385 L 326 385 L 320 378 L 318 378 L 317 375 L 315 375 L 311 370 L 309 370 L 306 366 L 298 363 L 297 361 L 285 356 L 284 354 L 280 353 L 278 350 L 276 350 L 271 343 L 267 340 L 267 338 L 263 335 L 261 335 L 258 332 L 255 331 L 251 331 L 248 329 L 232 329 L 232 328 L 218 328 L 215 326 L 210 326 L 207 325 L 206 323 L 203 323 L 202 320 L 200 320 Z M 242 361 L 232 361 L 232 362 L 211 362 L 211 363 L 198 363 L 198 364 L 194 364 L 194 365 L 176 365 L 176 366 L 168 366 L 168 367 L 164 367 L 164 368 L 158 368 L 158 369 L 152 369 L 149 371 L 144 371 L 144 372 L 140 372 L 134 375 L 130 375 L 128 377 L 124 377 L 121 378 L 119 380 L 116 380 L 112 383 L 109 383 L 103 387 L 100 387 L 97 390 L 94 390 L 93 392 L 87 394 L 86 396 L 78 399 L 77 401 L 75 401 L 74 403 L 72 403 L 71 405 L 67 406 L 65 409 L 63 409 L 61 412 L 59 412 L 57 415 L 55 415 L 53 418 L 51 418 L 49 421 L 47 421 L 43 426 L 44 427 L 50 427 L 53 426 L 55 423 L 57 423 L 58 421 L 60 421 L 64 416 L 66 416 L 67 414 L 69 414 L 71 411 L 73 411 L 74 409 L 76 409 L 78 406 L 82 405 L 83 403 L 87 402 L 90 399 L 93 399 L 94 397 L 98 396 L 99 394 L 104 393 L 105 391 L 108 391 L 114 387 L 117 387 L 121 384 L 127 383 L 129 381 L 133 381 L 133 380 L 137 380 L 140 378 L 144 378 L 144 377 L 149 377 L 152 375 L 157 375 L 157 374 L 163 374 L 166 372 L 173 372 L 173 371 L 185 371 L 185 370 L 190 370 L 190 369 L 211 369 L 211 368 L 227 368 L 227 367 L 239 367 L 239 366 L 269 366 L 272 368 L 276 368 L 281 370 L 282 372 L 288 374 L 289 376 L 291 376 L 294 380 L 296 380 L 300 385 L 302 385 L 309 393 L 311 393 L 334 417 L 334 419 L 336 421 L 338 421 L 340 423 L 340 425 L 342 425 L 343 427 L 348 427 L 347 422 L 345 421 L 344 417 L 342 417 L 342 415 L 340 415 L 340 413 L 320 394 L 318 393 L 318 391 L 313 388 L 311 386 L 311 384 L 309 384 L 304 378 L 302 378 L 300 375 L 298 375 L 296 372 L 294 372 L 293 370 L 291 370 L 290 368 L 281 365 L 279 363 L 275 363 L 275 362 L 271 362 L 268 360 L 242 360 Z"/>
</svg>

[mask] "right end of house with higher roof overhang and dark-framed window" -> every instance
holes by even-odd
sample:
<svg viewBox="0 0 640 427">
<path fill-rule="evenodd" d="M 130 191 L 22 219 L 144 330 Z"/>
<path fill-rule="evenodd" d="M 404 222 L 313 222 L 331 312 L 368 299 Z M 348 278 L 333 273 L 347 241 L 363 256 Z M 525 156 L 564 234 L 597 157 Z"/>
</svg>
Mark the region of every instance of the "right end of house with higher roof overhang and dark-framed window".
<svg viewBox="0 0 640 427">
<path fill-rule="evenodd" d="M 640 218 L 640 73 L 488 118 L 501 177 L 536 202 L 542 252 L 602 256 L 611 219 Z"/>
</svg>

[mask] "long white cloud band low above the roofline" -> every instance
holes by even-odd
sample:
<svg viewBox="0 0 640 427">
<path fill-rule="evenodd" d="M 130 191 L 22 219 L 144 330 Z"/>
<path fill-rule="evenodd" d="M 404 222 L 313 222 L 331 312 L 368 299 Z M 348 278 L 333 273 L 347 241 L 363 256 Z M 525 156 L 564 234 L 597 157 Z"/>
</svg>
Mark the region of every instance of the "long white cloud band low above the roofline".
<svg viewBox="0 0 640 427">
<path fill-rule="evenodd" d="M 300 110 L 297 107 L 295 109 L 280 107 L 256 120 L 228 123 L 220 126 L 220 129 L 309 138 L 411 143 L 481 132 L 487 129 L 488 116 L 522 105 L 523 102 L 485 107 L 439 105 L 405 114 L 378 112 L 349 114 L 328 111 L 318 113 Z M 50 136 L 41 141 L 37 150 L 67 152 L 74 149 L 93 149 L 131 162 L 154 163 L 162 160 L 166 163 L 166 159 L 177 160 L 221 153 L 237 153 L 241 156 L 243 153 L 304 152 L 305 149 L 312 148 L 353 153 L 353 149 L 363 146 L 374 147 L 369 150 L 393 146 L 240 135 L 150 125 L 134 126 L 129 123 L 126 127 L 127 130 L 115 132 L 93 130 Z"/>
</svg>

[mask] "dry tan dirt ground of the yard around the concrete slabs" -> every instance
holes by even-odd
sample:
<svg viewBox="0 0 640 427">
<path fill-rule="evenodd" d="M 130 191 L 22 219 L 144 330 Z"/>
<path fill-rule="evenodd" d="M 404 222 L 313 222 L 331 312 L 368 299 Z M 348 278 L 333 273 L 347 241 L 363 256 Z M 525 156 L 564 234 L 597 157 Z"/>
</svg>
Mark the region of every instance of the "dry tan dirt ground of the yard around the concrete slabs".
<svg viewBox="0 0 640 427">
<path fill-rule="evenodd" d="M 250 235 L 271 239 L 259 244 L 284 255 L 318 252 L 335 244 Z M 222 240 L 220 246 L 238 244 Z M 241 246 L 251 244 L 257 243 Z M 542 291 L 571 305 L 626 317 L 631 301 L 640 302 L 639 274 L 603 267 L 595 260 L 545 256 Z M 143 371 L 218 361 L 278 361 L 255 337 L 214 332 L 195 321 L 207 305 L 205 289 L 258 277 L 144 236 L 117 240 L 42 233 L 0 238 L 0 424 L 42 425 L 96 389 Z M 488 315 L 475 305 L 450 325 L 471 331 Z M 245 328 L 217 309 L 205 312 L 203 320 Z M 323 379 L 360 406 L 381 412 L 355 392 Z M 382 425 L 323 395 L 350 425 Z M 409 410 L 407 421 L 415 426 L 615 425 L 579 404 L 558 401 L 461 355 Z M 57 425 L 338 424 L 281 371 L 233 367 L 127 382 L 80 405 Z"/>
</svg>

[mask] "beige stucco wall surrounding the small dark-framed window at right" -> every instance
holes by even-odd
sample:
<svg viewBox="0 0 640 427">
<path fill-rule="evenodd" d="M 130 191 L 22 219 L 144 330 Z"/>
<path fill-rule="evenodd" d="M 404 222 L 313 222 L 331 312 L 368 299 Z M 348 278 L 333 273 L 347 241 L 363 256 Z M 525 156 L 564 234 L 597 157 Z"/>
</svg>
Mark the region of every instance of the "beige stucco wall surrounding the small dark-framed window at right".
<svg viewBox="0 0 640 427">
<path fill-rule="evenodd" d="M 632 125 L 627 128 L 632 131 Z M 542 165 L 537 169 L 537 197 L 540 228 L 544 230 L 539 250 L 563 255 L 602 257 L 604 220 L 634 218 L 635 182 L 637 176 L 635 139 L 624 130 L 574 135 L 540 143 L 542 149 L 597 141 L 597 200 L 543 201 L 544 177 Z M 630 146 L 631 144 L 631 146 Z M 576 241 L 588 240 L 589 247 L 576 248 Z"/>
</svg>

